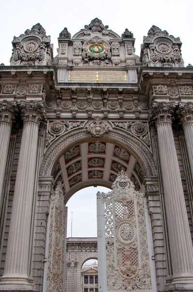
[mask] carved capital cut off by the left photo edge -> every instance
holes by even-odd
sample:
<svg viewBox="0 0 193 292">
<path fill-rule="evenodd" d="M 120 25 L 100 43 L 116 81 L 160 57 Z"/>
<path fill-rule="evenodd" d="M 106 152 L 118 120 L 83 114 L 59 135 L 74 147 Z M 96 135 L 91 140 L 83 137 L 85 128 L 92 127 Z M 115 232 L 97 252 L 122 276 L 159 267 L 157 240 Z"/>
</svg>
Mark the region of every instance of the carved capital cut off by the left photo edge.
<svg viewBox="0 0 193 292">
<path fill-rule="evenodd" d="M 12 124 L 15 120 L 14 107 L 16 107 L 16 102 L 8 102 L 6 99 L 0 101 L 0 122 L 7 122 Z"/>
</svg>

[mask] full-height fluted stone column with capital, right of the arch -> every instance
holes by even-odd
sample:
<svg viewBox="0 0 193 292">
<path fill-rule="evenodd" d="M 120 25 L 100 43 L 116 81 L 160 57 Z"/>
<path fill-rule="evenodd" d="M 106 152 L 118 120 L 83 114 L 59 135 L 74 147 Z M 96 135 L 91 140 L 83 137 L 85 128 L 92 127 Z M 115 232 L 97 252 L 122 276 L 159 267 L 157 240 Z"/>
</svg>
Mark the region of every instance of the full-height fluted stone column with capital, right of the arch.
<svg viewBox="0 0 193 292">
<path fill-rule="evenodd" d="M 174 103 L 157 103 L 150 109 L 156 124 L 164 187 L 165 212 L 172 263 L 168 289 L 193 288 L 193 246 L 172 131 Z"/>
</svg>

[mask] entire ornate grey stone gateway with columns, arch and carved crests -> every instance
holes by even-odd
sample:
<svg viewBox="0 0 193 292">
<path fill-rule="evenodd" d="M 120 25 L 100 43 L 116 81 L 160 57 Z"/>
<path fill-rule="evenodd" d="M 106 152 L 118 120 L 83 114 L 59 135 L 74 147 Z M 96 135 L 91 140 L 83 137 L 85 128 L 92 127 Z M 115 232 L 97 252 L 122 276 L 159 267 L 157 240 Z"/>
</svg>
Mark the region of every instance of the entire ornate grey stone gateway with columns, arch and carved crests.
<svg viewBox="0 0 193 292">
<path fill-rule="evenodd" d="M 145 192 L 157 290 L 193 291 L 193 66 L 179 37 L 153 25 L 139 57 L 128 29 L 95 18 L 64 28 L 54 57 L 39 23 L 24 31 L 0 66 L 0 290 L 65 289 L 65 204 L 123 170 Z M 142 287 L 118 270 L 120 289 Z"/>
</svg>

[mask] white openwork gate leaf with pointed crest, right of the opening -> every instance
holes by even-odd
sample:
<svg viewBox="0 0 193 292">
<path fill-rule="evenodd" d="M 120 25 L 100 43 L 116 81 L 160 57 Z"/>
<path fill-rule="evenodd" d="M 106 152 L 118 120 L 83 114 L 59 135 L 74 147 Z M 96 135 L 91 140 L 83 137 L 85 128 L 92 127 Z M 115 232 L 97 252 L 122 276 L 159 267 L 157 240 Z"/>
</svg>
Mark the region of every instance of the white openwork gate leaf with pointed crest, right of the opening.
<svg viewBox="0 0 193 292">
<path fill-rule="evenodd" d="M 99 237 L 101 239 L 98 238 L 98 250 L 103 245 L 102 250 L 106 255 L 107 276 L 106 283 L 104 278 L 103 283 L 107 291 L 153 291 L 145 222 L 145 194 L 135 190 L 134 183 L 123 170 L 112 184 L 112 189 L 107 194 L 97 193 L 97 204 L 104 204 L 105 216 L 105 229 L 98 221 L 98 228 L 104 230 Z M 100 269 L 100 262 L 98 264 Z"/>
</svg>

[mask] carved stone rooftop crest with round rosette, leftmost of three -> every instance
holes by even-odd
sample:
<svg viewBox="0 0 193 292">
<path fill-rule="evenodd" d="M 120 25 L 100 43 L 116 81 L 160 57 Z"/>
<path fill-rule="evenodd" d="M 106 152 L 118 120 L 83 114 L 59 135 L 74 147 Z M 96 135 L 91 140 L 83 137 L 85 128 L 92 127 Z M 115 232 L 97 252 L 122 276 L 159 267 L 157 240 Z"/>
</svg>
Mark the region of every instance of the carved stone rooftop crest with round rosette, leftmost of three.
<svg viewBox="0 0 193 292">
<path fill-rule="evenodd" d="M 51 65 L 52 46 L 50 36 L 40 23 L 27 29 L 24 34 L 14 37 L 11 65 Z"/>
</svg>

